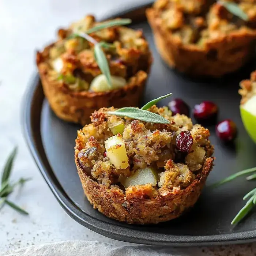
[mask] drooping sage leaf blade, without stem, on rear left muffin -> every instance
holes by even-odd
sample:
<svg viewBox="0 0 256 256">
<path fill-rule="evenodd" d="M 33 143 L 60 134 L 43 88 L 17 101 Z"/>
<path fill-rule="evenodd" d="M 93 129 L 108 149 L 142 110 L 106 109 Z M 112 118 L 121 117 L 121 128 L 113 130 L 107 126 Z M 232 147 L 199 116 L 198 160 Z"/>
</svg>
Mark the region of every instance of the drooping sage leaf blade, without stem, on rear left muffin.
<svg viewBox="0 0 256 256">
<path fill-rule="evenodd" d="M 109 64 L 100 44 L 96 44 L 94 46 L 94 54 L 95 54 L 95 59 L 97 61 L 99 69 L 101 69 L 102 74 L 106 76 L 109 88 L 111 89 L 112 82 L 111 82 Z"/>
</svg>

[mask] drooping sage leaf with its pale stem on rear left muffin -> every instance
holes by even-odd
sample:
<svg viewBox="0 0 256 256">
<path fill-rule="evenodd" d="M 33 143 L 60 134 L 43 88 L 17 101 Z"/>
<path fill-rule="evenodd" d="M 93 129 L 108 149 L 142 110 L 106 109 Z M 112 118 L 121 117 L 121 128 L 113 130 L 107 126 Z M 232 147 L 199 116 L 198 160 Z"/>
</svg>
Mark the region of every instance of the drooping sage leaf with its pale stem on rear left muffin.
<svg viewBox="0 0 256 256">
<path fill-rule="evenodd" d="M 109 64 L 108 60 L 106 58 L 105 53 L 102 50 L 101 42 L 97 42 L 93 37 L 91 37 L 88 34 L 85 33 L 76 33 L 79 37 L 83 37 L 87 41 L 91 42 L 94 44 L 94 56 L 96 59 L 96 62 L 99 66 L 99 69 L 101 70 L 102 74 L 106 76 L 109 88 L 112 88 L 112 81 L 111 81 L 111 74 L 110 74 L 110 69 L 109 69 Z"/>
</svg>

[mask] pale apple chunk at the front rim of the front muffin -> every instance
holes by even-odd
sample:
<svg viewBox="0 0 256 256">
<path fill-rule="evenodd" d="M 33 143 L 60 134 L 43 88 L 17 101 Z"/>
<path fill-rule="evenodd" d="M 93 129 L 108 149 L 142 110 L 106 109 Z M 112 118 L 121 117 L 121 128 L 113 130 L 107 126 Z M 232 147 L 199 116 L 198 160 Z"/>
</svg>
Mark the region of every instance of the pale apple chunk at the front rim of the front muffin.
<svg viewBox="0 0 256 256">
<path fill-rule="evenodd" d="M 153 186 L 157 185 L 158 180 L 158 172 L 151 168 L 141 168 L 135 171 L 135 173 L 130 177 L 121 177 L 119 181 L 121 184 L 128 188 L 129 186 L 136 186 L 136 185 L 145 185 L 150 183 Z"/>
</svg>

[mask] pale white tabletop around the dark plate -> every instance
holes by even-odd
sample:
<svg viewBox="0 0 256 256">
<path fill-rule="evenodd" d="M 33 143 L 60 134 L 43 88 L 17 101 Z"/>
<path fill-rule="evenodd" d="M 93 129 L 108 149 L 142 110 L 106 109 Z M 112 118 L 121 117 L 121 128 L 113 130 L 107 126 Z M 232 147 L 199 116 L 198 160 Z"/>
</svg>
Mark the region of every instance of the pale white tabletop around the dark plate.
<svg viewBox="0 0 256 256">
<path fill-rule="evenodd" d="M 35 50 L 42 49 L 55 38 L 57 27 L 68 25 L 89 13 L 101 17 L 118 8 L 129 8 L 131 3 L 136 2 L 138 0 L 0 0 L 0 168 L 10 151 L 18 145 L 19 153 L 11 178 L 33 178 L 21 193 L 11 196 L 30 215 L 20 215 L 8 206 L 0 212 L 0 251 L 64 240 L 127 244 L 79 225 L 60 207 L 22 137 L 20 103 L 36 70 Z M 148 0 L 140 2 L 147 3 Z M 240 255 L 256 255 L 255 245 L 222 249 L 195 248 L 185 251 L 189 255 L 192 252 L 197 252 L 196 255 L 236 255 L 227 254 L 229 250 L 240 252 Z"/>
</svg>

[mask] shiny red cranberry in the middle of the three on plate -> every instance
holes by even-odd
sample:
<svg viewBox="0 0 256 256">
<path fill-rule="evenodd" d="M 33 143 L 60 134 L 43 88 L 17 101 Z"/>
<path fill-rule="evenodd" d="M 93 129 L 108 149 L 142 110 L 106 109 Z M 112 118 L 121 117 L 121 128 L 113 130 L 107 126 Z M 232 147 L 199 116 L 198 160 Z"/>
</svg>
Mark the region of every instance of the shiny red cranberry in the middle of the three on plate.
<svg viewBox="0 0 256 256">
<path fill-rule="evenodd" d="M 203 101 L 202 103 L 195 105 L 193 114 L 199 122 L 215 122 L 218 114 L 218 107 L 211 101 Z"/>
</svg>

